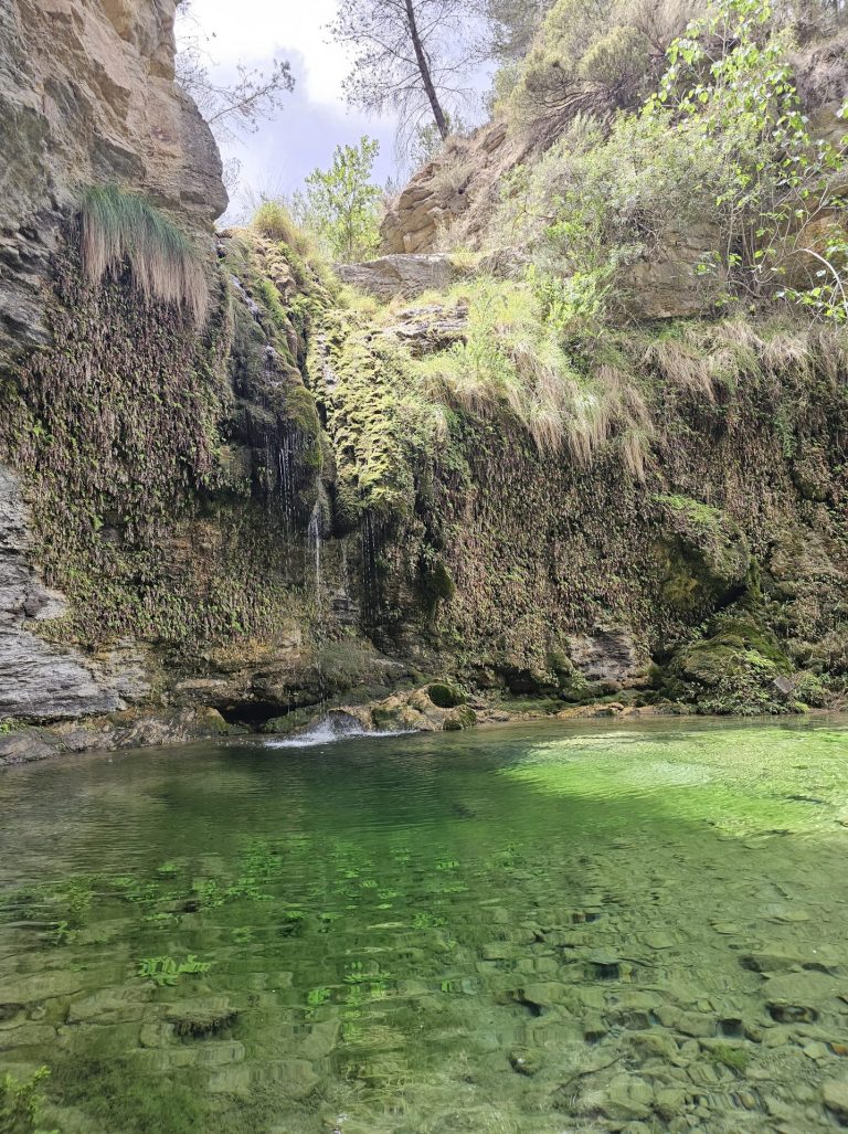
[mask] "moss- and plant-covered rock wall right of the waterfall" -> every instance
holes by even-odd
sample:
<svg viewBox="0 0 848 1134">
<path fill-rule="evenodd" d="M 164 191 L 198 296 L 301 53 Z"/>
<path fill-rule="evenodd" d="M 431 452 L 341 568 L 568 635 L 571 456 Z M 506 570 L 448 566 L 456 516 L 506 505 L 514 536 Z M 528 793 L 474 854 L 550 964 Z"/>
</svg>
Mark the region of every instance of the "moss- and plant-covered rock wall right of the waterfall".
<svg viewBox="0 0 848 1134">
<path fill-rule="evenodd" d="M 672 666 L 654 684 L 711 711 L 786 706 L 772 682 L 788 671 L 841 687 L 843 337 L 739 322 L 620 333 L 652 420 L 638 475 L 614 433 L 582 465 L 540 451 L 508 408 L 475 412 L 422 384 L 409 318 L 334 316 L 312 367 L 340 482 L 376 531 L 383 644 L 429 649 L 474 680 L 579 695 L 562 660 L 575 636 L 625 628 L 664 669 L 730 609 L 749 627 L 735 680 Z"/>
</svg>

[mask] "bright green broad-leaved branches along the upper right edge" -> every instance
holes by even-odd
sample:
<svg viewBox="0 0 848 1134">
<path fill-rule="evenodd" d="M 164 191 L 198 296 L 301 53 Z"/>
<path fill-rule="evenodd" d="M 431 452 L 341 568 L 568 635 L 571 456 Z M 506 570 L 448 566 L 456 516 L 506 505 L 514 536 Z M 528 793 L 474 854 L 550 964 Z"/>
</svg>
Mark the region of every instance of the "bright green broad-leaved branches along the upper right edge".
<svg viewBox="0 0 848 1134">
<path fill-rule="evenodd" d="M 718 57 L 716 41 L 728 45 Z M 755 295 L 786 282 L 781 296 L 845 321 L 848 242 L 838 213 L 848 135 L 836 146 L 813 137 L 789 48 L 770 3 L 721 0 L 671 44 L 644 115 L 671 127 L 709 171 L 723 239 L 704 271 Z"/>
</svg>

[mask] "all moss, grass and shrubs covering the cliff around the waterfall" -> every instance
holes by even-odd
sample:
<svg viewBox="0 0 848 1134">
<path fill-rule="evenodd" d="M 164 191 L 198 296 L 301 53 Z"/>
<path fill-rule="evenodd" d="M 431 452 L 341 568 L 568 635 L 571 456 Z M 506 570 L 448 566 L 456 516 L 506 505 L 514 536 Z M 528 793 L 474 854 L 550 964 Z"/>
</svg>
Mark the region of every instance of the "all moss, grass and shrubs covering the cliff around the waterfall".
<svg viewBox="0 0 848 1134">
<path fill-rule="evenodd" d="M 444 227 L 442 291 L 380 303 L 316 252 L 372 247 L 373 147 L 314 180 L 320 231 L 265 201 L 217 264 L 86 191 L 53 345 L 0 391 L 70 600 L 43 633 L 142 642 L 273 716 L 392 667 L 559 704 L 843 692 L 843 142 L 768 7 L 677 37 L 669 9 L 653 39 L 638 6 L 591 15 L 559 0 L 502 94 L 515 137 L 563 84 L 474 232 Z"/>
</svg>

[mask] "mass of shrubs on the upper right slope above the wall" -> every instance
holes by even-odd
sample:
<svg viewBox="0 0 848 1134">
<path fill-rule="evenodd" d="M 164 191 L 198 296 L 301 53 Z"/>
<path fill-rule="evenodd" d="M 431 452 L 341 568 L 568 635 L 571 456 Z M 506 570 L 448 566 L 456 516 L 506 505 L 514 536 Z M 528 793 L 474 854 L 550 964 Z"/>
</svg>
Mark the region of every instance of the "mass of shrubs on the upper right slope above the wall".
<svg viewBox="0 0 848 1134">
<path fill-rule="evenodd" d="M 705 310 L 783 298 L 814 319 L 843 321 L 846 139 L 833 145 L 812 135 L 788 34 L 769 5 L 721 0 L 671 41 L 664 75 L 637 66 L 656 93 L 637 113 L 620 102 L 602 132 L 593 100 L 599 84 L 608 87 L 587 82 L 578 98 L 576 75 L 613 67 L 616 43 L 625 60 L 639 52 L 622 27 L 592 39 L 566 18 L 574 3 L 603 24 L 605 6 L 560 0 L 551 9 L 545 27 L 556 45 L 546 62 L 536 58 L 541 48 L 531 56 L 525 85 L 536 65 L 550 70 L 569 92 L 565 117 L 556 145 L 504 181 L 490 239 L 524 245 L 543 274 L 592 281 L 595 322 L 627 306 L 622 269 L 663 256 L 692 232 L 705 252 L 686 286 L 699 288 Z"/>
</svg>

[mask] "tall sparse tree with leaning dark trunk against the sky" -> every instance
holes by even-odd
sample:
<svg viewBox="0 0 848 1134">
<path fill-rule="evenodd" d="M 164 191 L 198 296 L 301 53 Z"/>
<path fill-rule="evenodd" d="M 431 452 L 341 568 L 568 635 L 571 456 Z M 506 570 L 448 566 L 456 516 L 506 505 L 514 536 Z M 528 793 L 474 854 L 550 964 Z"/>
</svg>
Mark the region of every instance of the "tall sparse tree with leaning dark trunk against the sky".
<svg viewBox="0 0 848 1134">
<path fill-rule="evenodd" d="M 446 138 L 478 61 L 472 10 L 468 0 L 346 0 L 331 32 L 353 48 L 348 101 L 397 111 L 401 142 L 429 118 Z"/>
</svg>

